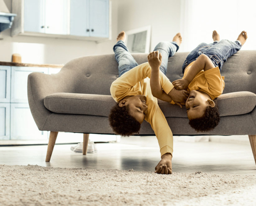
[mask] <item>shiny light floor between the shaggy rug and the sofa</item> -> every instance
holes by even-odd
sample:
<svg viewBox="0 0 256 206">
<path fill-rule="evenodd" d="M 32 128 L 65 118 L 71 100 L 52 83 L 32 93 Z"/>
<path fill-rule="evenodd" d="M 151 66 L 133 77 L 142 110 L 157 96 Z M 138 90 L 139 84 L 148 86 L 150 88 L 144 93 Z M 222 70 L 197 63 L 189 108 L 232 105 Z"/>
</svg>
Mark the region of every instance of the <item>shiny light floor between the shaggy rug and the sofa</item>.
<svg viewBox="0 0 256 206">
<path fill-rule="evenodd" d="M 82 138 L 81 138 L 82 141 Z M 83 156 L 72 145 L 55 145 L 51 162 L 45 162 L 47 146 L 0 147 L 0 164 L 131 169 L 154 171 L 160 160 L 156 138 L 122 138 L 121 143 L 97 144 L 98 152 Z M 174 142 L 173 172 L 202 171 L 215 174 L 256 175 L 249 144 Z"/>
</svg>

